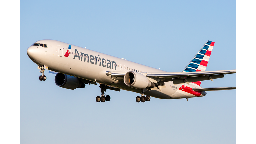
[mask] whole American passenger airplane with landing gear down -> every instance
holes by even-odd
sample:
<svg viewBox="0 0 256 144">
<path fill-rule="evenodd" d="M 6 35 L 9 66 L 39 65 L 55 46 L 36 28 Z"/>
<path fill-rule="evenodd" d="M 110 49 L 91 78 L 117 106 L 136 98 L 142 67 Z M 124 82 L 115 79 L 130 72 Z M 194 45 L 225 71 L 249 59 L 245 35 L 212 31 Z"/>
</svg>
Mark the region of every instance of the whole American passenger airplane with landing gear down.
<svg viewBox="0 0 256 144">
<path fill-rule="evenodd" d="M 45 70 L 56 74 L 56 85 L 66 89 L 100 84 L 97 102 L 110 100 L 107 89 L 140 93 L 137 102 L 159 99 L 202 97 L 205 91 L 230 90 L 236 87 L 202 88 L 201 81 L 224 77 L 236 70 L 205 71 L 214 42 L 207 41 L 182 72 L 165 72 L 142 64 L 113 57 L 56 40 L 39 40 L 27 49 L 29 58 L 38 65 L 46 80 Z M 106 95 L 106 96 L 105 96 Z M 145 96 L 146 95 L 146 96 Z"/>
</svg>

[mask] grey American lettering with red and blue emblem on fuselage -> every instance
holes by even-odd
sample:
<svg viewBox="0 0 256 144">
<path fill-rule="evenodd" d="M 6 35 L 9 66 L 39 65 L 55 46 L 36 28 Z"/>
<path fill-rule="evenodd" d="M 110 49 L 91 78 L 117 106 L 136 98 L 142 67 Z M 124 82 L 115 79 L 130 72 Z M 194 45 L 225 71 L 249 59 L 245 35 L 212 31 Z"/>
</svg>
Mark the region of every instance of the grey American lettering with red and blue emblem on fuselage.
<svg viewBox="0 0 256 144">
<path fill-rule="evenodd" d="M 69 45 L 70 46 L 70 45 Z M 71 49 L 71 46 L 70 46 L 70 49 Z M 66 52 L 66 57 L 68 57 L 68 55 L 70 54 L 70 52 L 69 52 L 69 50 Z M 64 55 L 64 56 L 65 56 Z M 98 56 L 100 56 L 100 55 L 98 55 Z M 86 62 L 86 60 L 87 60 L 87 62 L 89 63 L 89 60 L 90 60 L 90 63 L 91 64 L 95 64 L 95 65 L 97 65 L 97 62 L 99 62 L 99 66 L 103 66 L 103 67 L 107 67 L 107 68 L 109 68 L 109 69 L 113 69 L 114 67 L 115 67 L 115 70 L 116 70 L 116 67 L 117 67 L 117 65 L 116 65 L 116 62 L 115 61 L 110 61 L 110 60 L 106 60 L 106 59 L 104 59 L 104 58 L 100 58 L 100 57 L 98 57 L 98 56 L 93 56 L 93 55 L 88 55 L 88 54 L 85 54 L 85 53 L 81 53 L 80 55 L 79 55 L 79 52 L 77 51 L 77 49 L 75 49 L 75 55 L 74 55 L 74 59 L 75 58 L 78 58 L 78 60 L 80 60 L 80 61 L 83 61 L 83 58 L 84 58 L 84 62 Z"/>
</svg>

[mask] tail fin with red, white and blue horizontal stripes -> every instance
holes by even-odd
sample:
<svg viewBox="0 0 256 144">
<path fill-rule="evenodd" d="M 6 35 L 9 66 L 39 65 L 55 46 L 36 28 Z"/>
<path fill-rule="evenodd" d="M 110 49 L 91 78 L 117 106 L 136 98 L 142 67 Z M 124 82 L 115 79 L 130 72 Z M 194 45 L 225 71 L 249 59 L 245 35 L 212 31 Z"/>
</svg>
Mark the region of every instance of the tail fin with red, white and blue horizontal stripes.
<svg viewBox="0 0 256 144">
<path fill-rule="evenodd" d="M 207 41 L 182 72 L 205 71 L 213 46 L 214 42 Z M 200 86 L 201 81 L 194 83 Z"/>
</svg>

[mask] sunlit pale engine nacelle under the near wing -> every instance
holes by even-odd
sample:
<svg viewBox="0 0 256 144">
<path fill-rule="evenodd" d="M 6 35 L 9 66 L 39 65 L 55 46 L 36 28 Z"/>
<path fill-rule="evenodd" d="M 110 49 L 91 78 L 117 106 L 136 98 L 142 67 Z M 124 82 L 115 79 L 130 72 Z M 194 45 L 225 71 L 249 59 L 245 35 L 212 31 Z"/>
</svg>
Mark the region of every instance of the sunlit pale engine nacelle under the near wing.
<svg viewBox="0 0 256 144">
<path fill-rule="evenodd" d="M 145 75 L 134 71 L 129 71 L 124 75 L 124 83 L 129 87 L 137 89 L 155 86 Z"/>
</svg>

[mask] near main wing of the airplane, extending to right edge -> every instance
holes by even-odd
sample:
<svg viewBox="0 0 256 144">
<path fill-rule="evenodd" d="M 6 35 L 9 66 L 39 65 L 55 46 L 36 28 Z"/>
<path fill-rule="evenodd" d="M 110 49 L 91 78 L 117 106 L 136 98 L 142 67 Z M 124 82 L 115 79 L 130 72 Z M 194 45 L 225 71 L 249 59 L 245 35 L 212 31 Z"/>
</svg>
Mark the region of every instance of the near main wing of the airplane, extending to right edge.
<svg viewBox="0 0 256 144">
<path fill-rule="evenodd" d="M 111 75 L 113 78 L 123 78 L 126 72 L 110 72 L 106 71 L 106 75 Z M 169 72 L 169 73 L 143 73 L 152 82 L 168 82 L 173 81 L 173 84 L 182 84 L 204 80 L 212 80 L 223 78 L 224 74 L 233 74 L 236 70 L 222 71 L 197 71 L 197 72 Z"/>
</svg>

